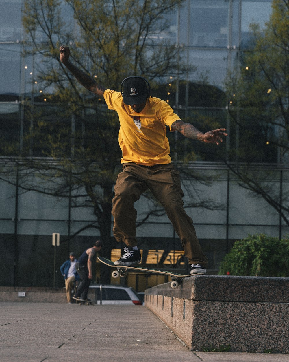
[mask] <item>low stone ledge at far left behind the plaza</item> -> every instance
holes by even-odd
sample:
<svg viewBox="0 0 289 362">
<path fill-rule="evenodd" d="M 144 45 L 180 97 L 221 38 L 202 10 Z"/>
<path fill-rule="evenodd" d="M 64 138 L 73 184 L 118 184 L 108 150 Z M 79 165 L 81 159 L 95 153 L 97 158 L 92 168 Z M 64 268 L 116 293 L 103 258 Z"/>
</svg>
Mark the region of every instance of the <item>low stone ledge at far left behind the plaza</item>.
<svg viewBox="0 0 289 362">
<path fill-rule="evenodd" d="M 0 287 L 0 302 L 67 303 L 67 299 L 65 288 Z"/>
</svg>

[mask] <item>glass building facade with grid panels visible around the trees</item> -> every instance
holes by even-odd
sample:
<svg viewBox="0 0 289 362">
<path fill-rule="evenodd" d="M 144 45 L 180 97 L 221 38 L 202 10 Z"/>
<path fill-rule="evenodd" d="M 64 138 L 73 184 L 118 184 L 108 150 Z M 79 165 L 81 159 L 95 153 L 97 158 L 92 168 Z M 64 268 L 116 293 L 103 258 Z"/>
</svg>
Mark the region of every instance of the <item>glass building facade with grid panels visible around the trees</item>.
<svg viewBox="0 0 289 362">
<path fill-rule="evenodd" d="M 41 101 L 38 101 L 41 89 L 37 86 L 37 65 L 41 59 L 39 56 L 22 56 L 23 41 L 25 41 L 21 19 L 23 1 L 0 1 L 0 132 L 6 139 L 18 140 L 21 153 L 23 130 L 25 127 L 29 127 L 29 125 L 25 125 L 22 114 L 21 104 L 24 97 L 27 94 L 30 96 L 33 94 L 35 107 L 46 108 L 47 117 L 51 118 L 51 122 L 55 119 L 55 114 L 49 110 L 50 106 L 45 103 L 43 97 Z M 158 38 L 160 40 L 168 39 L 181 50 L 182 59 L 187 64 L 193 64 L 194 72 L 187 73 L 185 79 L 182 80 L 194 84 L 200 79 L 206 79 L 208 86 L 214 87 L 224 96 L 224 80 L 227 72 L 238 62 L 242 50 L 248 47 L 250 24 L 256 23 L 263 27 L 269 20 L 271 12 L 271 0 L 188 0 L 182 7 L 167 15 L 169 27 L 166 31 L 155 35 L 155 41 L 157 42 Z M 63 5 L 63 17 L 70 22 L 74 21 L 72 13 L 66 5 Z M 41 38 L 40 35 L 39 37 Z M 41 40 L 40 38 L 39 40 Z M 173 80 L 180 81 L 177 78 Z M 181 87 L 179 90 L 174 93 L 174 98 L 170 98 L 168 101 L 178 110 L 181 117 L 188 117 L 194 111 L 198 111 L 202 115 L 213 114 L 218 117 L 222 125 L 230 130 L 226 102 L 222 104 L 216 102 L 213 105 L 206 105 L 206 103 L 194 105 L 191 103 L 194 94 L 190 93 L 190 88 L 184 88 L 182 97 L 180 96 Z M 66 122 L 69 123 L 71 132 L 73 132 L 77 127 L 77 120 L 72 117 Z M 227 140 L 226 152 L 229 152 L 230 144 L 236 142 L 236 138 L 236 135 L 230 135 Z M 31 146 L 30 155 L 39 156 L 40 153 Z M 2 157 L 4 158 L 5 155 Z M 178 161 L 177 154 L 173 155 L 173 159 Z M 214 155 L 208 155 L 205 161 L 197 162 L 191 167 L 198 171 L 202 170 L 204 173 L 221 173 L 219 184 L 217 183 L 214 186 L 215 189 L 209 192 L 219 195 L 224 188 L 228 190 L 227 169 L 215 163 Z M 52 232 L 60 232 L 61 235 L 73 234 L 82 225 L 93 220 L 94 216 L 89 210 L 82 212 L 70 210 L 66 201 L 57 203 L 52 197 L 45 197 L 33 191 L 23 194 L 17 187 L 5 182 L 2 182 L 1 194 L 4 206 L 0 212 L 0 235 L 7 255 L 5 265 L 9 271 L 6 274 L 10 276 L 5 276 L 0 283 L 3 285 L 25 284 L 25 279 L 21 279 L 20 276 L 16 278 L 15 270 L 13 271 L 12 265 L 17 259 L 22 260 L 18 273 L 19 270 L 25 271 L 27 268 L 27 274 L 31 274 L 27 280 L 31 285 L 37 285 L 36 274 L 31 272 L 31 265 L 33 269 L 33 258 L 36 257 L 38 251 L 43 258 L 49 254 L 49 263 L 52 264 L 53 256 L 51 256 L 50 247 Z M 249 216 L 241 215 L 240 209 L 243 207 L 243 201 L 241 201 L 242 195 L 237 191 L 236 185 L 232 185 L 231 194 L 234 195 L 235 201 L 231 205 L 232 201 L 227 200 L 227 209 L 225 208 L 218 214 L 216 211 L 211 213 L 199 211 L 193 217 L 200 242 L 210 259 L 210 269 L 218 268 L 218 263 L 228 250 L 230 241 L 244 237 L 248 232 L 254 233 L 258 225 L 264 227 L 264 220 L 260 215 L 257 218 L 259 220 L 256 221 L 255 218 L 254 224 Z M 236 206 L 237 204 L 238 206 Z M 141 209 L 141 206 L 138 207 Z M 255 207 L 258 209 L 258 205 Z M 53 216 L 51 216 L 52 209 Z M 234 209 L 235 216 L 229 215 L 229 209 Z M 249 211 L 254 214 L 254 207 L 251 207 Z M 193 214 L 193 212 L 191 213 Z M 236 219 L 230 219 L 230 217 Z M 210 220 L 210 222 L 205 224 L 204 219 Z M 174 248 L 176 251 L 181 249 L 180 241 L 176 239 L 168 220 L 160 218 L 156 223 L 159 223 L 158 235 L 152 235 L 152 224 L 145 224 L 139 229 L 139 240 L 145 244 L 147 239 L 153 240 L 156 237 L 155 244 L 148 245 L 147 248 L 165 249 L 162 242 L 169 239 L 173 245 L 171 249 Z M 278 233 L 279 216 L 272 215 L 271 220 L 266 222 L 267 228 L 270 227 L 269 224 L 272 224 Z M 204 229 L 206 230 L 204 231 Z M 62 248 L 58 256 L 59 263 L 65 260 L 68 250 L 74 249 L 74 251 L 81 252 L 85 246 L 90 246 L 91 240 L 97 236 L 95 231 L 86 231 L 78 235 L 77 239 L 71 241 L 70 246 L 66 245 L 65 248 Z M 17 251 L 13 247 L 16 243 L 15 240 L 18 245 Z M 210 243 L 208 240 L 211 240 Z M 225 243 L 222 244 L 223 246 L 220 244 L 221 241 Z M 50 279 L 50 281 L 47 282 L 47 286 L 51 285 L 52 280 L 50 270 L 52 266 L 49 268 L 47 269 L 47 280 Z M 42 285 L 46 284 L 43 282 Z"/>
</svg>

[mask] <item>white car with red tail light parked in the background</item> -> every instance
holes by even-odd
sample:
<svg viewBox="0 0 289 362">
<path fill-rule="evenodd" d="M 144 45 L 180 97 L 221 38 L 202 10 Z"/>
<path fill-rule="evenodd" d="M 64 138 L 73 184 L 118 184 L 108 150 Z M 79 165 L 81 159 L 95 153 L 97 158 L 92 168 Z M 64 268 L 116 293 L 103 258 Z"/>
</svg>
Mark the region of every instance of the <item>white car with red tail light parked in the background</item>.
<svg viewBox="0 0 289 362">
<path fill-rule="evenodd" d="M 135 304 L 141 306 L 137 293 L 131 287 L 113 284 L 92 284 L 88 298 L 95 304 Z"/>
</svg>

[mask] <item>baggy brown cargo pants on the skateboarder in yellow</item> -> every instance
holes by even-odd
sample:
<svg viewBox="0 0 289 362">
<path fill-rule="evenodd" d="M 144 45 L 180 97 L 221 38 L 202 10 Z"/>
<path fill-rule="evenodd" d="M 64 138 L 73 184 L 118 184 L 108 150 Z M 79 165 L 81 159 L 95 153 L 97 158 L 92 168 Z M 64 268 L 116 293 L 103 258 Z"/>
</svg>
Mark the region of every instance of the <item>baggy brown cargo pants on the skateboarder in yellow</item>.
<svg viewBox="0 0 289 362">
<path fill-rule="evenodd" d="M 126 245 L 137 245 L 136 220 L 137 211 L 133 204 L 141 194 L 150 189 L 154 197 L 163 205 L 171 220 L 174 230 L 181 239 L 185 256 L 190 264 L 208 264 L 196 236 L 193 220 L 186 214 L 183 207 L 180 172 L 172 164 L 151 167 L 125 163 L 118 175 L 115 185 L 115 197 L 112 200 L 114 217 L 113 235 L 117 241 Z"/>
</svg>

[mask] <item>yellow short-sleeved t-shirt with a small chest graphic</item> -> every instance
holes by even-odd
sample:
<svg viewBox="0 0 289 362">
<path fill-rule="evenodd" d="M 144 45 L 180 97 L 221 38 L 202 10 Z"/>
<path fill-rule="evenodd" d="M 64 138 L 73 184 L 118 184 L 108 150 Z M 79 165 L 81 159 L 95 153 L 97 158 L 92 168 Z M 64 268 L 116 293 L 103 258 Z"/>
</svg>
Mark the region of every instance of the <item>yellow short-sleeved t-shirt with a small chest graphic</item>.
<svg viewBox="0 0 289 362">
<path fill-rule="evenodd" d="M 122 151 L 121 163 L 168 164 L 169 141 L 166 126 L 180 119 L 167 102 L 150 97 L 140 113 L 125 105 L 120 92 L 106 89 L 104 100 L 108 109 L 115 110 L 120 120 L 118 142 Z"/>
</svg>

